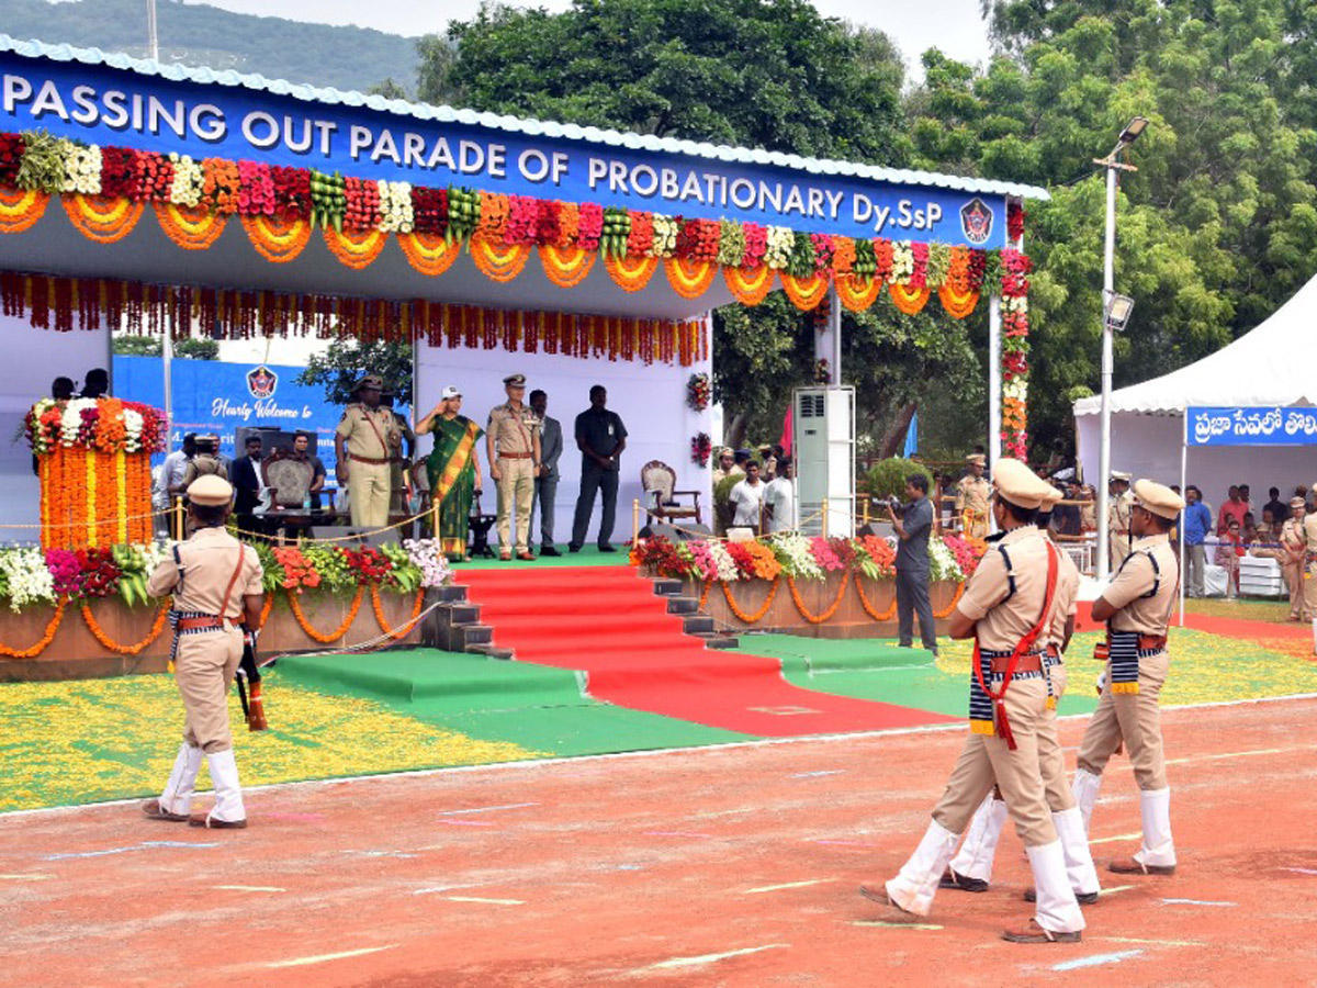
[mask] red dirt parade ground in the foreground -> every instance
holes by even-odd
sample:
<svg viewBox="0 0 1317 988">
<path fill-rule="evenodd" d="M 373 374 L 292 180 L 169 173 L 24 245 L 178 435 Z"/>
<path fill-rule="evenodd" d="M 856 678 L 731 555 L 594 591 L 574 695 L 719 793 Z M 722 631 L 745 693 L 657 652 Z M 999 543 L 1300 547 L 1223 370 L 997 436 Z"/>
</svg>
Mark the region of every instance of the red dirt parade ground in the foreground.
<svg viewBox="0 0 1317 988">
<path fill-rule="evenodd" d="M 876 925 L 856 885 L 914 847 L 963 738 L 925 731 L 287 785 L 249 794 L 246 831 L 0 817 L 0 984 L 1310 985 L 1314 715 L 1164 711 L 1180 872 L 1105 875 L 1133 888 L 1080 945 L 997 939 L 1029 914 L 1013 834 L 994 889 L 939 894 L 936 929 Z M 1137 830 L 1119 761 L 1100 865 Z"/>
</svg>

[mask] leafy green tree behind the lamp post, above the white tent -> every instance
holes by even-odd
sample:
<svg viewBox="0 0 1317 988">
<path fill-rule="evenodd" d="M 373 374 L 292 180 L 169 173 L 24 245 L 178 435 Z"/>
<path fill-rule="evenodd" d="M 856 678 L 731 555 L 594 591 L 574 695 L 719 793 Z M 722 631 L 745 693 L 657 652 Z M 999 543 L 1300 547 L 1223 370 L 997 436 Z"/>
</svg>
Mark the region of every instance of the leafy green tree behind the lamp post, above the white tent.
<svg viewBox="0 0 1317 988">
<path fill-rule="evenodd" d="M 1097 389 L 1105 186 L 1094 157 L 1151 123 L 1121 177 L 1117 387 L 1256 325 L 1317 271 L 1317 14 L 1285 0 L 1000 0 L 985 72 L 925 57 L 915 163 L 1051 187 L 1030 206 L 1034 456 L 1073 452 Z"/>
</svg>

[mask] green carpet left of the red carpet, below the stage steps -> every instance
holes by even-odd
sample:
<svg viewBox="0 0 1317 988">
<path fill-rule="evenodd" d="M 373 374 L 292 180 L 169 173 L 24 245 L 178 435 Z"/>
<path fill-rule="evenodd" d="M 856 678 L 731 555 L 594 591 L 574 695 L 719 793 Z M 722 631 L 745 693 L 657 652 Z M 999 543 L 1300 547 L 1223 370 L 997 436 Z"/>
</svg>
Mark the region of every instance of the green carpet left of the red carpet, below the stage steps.
<svg viewBox="0 0 1317 988">
<path fill-rule="evenodd" d="M 416 648 L 370 656 L 290 656 L 277 682 L 383 703 L 471 738 L 511 742 L 545 755 L 724 744 L 753 740 L 581 694 L 577 673 L 479 655 Z"/>
</svg>

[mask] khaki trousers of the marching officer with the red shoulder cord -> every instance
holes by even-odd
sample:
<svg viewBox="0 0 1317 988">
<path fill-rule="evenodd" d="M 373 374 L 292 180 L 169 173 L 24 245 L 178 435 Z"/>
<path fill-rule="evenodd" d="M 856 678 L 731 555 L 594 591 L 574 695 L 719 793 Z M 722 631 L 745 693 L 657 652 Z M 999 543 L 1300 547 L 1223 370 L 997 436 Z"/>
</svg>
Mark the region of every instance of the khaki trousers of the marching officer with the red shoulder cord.
<svg viewBox="0 0 1317 988">
<path fill-rule="evenodd" d="M 1015 750 L 1010 751 L 996 735 L 971 732 L 932 818 L 952 834 L 965 833 L 996 782 L 1025 847 L 1056 840 L 1038 754 L 1038 735 L 1047 713 L 1046 680 L 1013 680 L 1006 690 L 1006 715 Z"/>
</svg>

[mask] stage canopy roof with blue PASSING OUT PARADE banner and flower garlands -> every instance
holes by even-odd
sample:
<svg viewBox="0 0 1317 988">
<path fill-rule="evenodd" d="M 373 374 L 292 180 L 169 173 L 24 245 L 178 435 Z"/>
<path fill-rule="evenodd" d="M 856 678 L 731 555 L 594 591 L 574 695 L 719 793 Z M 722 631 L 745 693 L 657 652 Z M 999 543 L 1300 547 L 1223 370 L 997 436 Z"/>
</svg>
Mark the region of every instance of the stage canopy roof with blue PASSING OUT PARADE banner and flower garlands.
<svg viewBox="0 0 1317 988">
<path fill-rule="evenodd" d="M 863 308 L 877 294 L 869 282 L 886 281 L 968 314 L 982 254 L 1014 242 L 1008 209 L 1047 198 L 1008 182 L 475 113 L 5 36 L 0 75 L 0 132 L 91 145 L 88 175 L 99 170 L 92 186 L 55 190 L 46 208 L 40 192 L 14 194 L 0 145 L 0 192 L 11 187 L 0 231 L 20 234 L 0 236 L 9 271 L 670 320 L 757 300 L 778 283 L 811 308 L 835 282 Z M 346 215 L 340 202 L 327 224 L 306 188 L 290 191 L 290 169 L 346 177 Z M 275 212 L 252 206 L 261 187 L 279 198 Z M 464 194 L 479 202 L 478 229 L 453 221 Z M 362 203 L 365 220 L 353 212 Z M 665 231 L 666 246 L 651 246 Z M 527 263 L 535 253 L 540 263 Z M 666 277 L 651 277 L 656 269 Z"/>
</svg>

